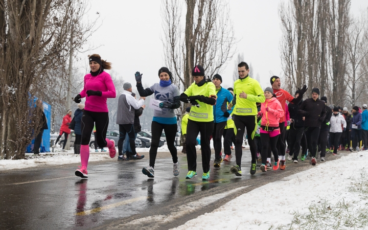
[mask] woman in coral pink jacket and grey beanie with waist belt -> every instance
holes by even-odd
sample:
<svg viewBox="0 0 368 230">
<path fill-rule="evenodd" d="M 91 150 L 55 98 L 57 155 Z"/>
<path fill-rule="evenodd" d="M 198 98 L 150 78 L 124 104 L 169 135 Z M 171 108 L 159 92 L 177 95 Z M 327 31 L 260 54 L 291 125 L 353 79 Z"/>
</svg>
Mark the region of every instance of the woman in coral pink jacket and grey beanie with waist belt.
<svg viewBox="0 0 368 230">
<path fill-rule="evenodd" d="M 280 118 L 283 117 L 285 114 L 279 100 L 273 97 L 272 88 L 267 87 L 264 91 L 264 96 L 266 100 L 261 104 L 261 111 L 259 112 L 260 116 L 262 116 L 260 128 L 262 142 L 262 172 L 267 171 L 266 163 L 268 145 L 271 146 L 271 150 L 275 160 L 273 170 L 279 169 L 280 159 L 276 144 L 278 142 L 280 134 L 279 121 Z"/>
</svg>

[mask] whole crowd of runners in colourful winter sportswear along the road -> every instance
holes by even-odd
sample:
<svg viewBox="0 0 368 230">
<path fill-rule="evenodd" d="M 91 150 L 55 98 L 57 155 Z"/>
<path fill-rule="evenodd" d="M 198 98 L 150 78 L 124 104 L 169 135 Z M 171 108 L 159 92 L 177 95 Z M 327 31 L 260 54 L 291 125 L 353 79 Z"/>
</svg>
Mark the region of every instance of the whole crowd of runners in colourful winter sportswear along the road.
<svg viewBox="0 0 368 230">
<path fill-rule="evenodd" d="M 75 97 L 80 103 L 86 98 L 81 117 L 80 153 L 81 167 L 75 174 L 87 176 L 90 135 L 95 130 L 95 142 L 101 148 L 109 149 L 110 157 L 116 155 L 115 143 L 106 139 L 109 117 L 107 98 L 115 98 L 116 91 L 111 77 L 104 70 L 111 63 L 97 54 L 89 56 L 90 74 L 84 77 L 83 90 Z M 262 162 L 260 170 L 286 170 L 286 163 L 298 163 L 309 156 L 311 165 L 317 159 L 325 161 L 326 153 L 336 155 L 338 151 L 359 151 L 368 145 L 367 105 L 354 106 L 349 112 L 347 107 L 327 106 L 327 98 L 320 97 L 319 89 L 313 88 L 309 98 L 303 100 L 307 86 L 297 88 L 294 97 L 281 88 L 281 80 L 272 76 L 270 86 L 264 90 L 260 83 L 249 76 L 246 62 L 238 64 L 239 79 L 233 88 L 221 87 L 222 77 L 216 74 L 205 77 L 204 68 L 196 65 L 192 70 L 193 83 L 180 94 L 173 84 L 172 73 L 167 67 L 158 71 L 159 82 L 149 88 L 143 88 L 140 72 L 135 73 L 136 87 L 140 99 L 132 93 L 132 85 L 124 83 L 124 92 L 119 96 L 116 123 L 119 125 L 118 160 L 142 159 L 135 150 L 137 130 L 141 130 L 139 116 L 144 108 L 145 97 L 154 95 L 159 101 L 159 109 L 154 110 L 151 123 L 152 143 L 149 151 L 149 166 L 142 172 L 154 177 L 155 159 L 160 136 L 164 131 L 168 149 L 173 160 L 173 174 L 179 175 L 179 162 L 175 147 L 177 119 L 175 109 L 181 102 L 186 108 L 181 119 L 183 139 L 182 152 L 187 154 L 188 173 L 186 178 L 197 176 L 197 136 L 200 134 L 202 179 L 208 180 L 211 172 L 211 139 L 215 158 L 213 167 L 221 167 L 223 161 L 231 162 L 232 146 L 235 144 L 235 164 L 231 172 L 242 176 L 242 154 L 244 136 L 250 149 L 250 174 L 257 171 L 257 160 Z M 319 99 L 320 98 L 320 99 Z M 288 102 L 288 103 L 287 103 Z M 68 111 L 69 112 L 69 111 Z M 63 133 L 60 133 L 60 136 Z M 224 143 L 222 143 L 222 138 Z M 124 148 L 123 142 L 129 148 Z M 222 147 L 224 154 L 222 154 Z M 364 147 L 364 148 L 362 148 Z M 301 156 L 299 153 L 301 151 Z M 126 156 L 124 156 L 124 153 Z M 271 154 L 272 153 L 272 154 Z M 271 159 L 273 155 L 273 161 Z"/>
</svg>

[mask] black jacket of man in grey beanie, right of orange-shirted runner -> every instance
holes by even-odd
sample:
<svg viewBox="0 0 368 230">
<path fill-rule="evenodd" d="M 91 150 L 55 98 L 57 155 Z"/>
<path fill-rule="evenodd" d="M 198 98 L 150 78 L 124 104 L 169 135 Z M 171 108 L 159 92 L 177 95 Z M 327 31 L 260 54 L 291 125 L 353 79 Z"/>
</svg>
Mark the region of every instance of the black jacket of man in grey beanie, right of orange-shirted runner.
<svg viewBox="0 0 368 230">
<path fill-rule="evenodd" d="M 326 104 L 322 100 L 308 98 L 301 104 L 298 112 L 305 117 L 305 127 L 320 127 L 326 118 Z"/>
</svg>

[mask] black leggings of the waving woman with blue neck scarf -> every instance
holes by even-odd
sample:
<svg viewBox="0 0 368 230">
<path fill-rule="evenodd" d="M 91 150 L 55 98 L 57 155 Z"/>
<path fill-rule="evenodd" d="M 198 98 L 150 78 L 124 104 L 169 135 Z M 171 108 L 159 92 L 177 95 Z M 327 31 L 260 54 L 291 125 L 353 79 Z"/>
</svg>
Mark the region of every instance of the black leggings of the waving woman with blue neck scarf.
<svg viewBox="0 0 368 230">
<path fill-rule="evenodd" d="M 171 153 L 171 157 L 173 163 L 177 163 L 177 150 L 175 147 L 175 136 L 177 132 L 177 124 L 161 124 L 153 121 L 151 123 L 151 133 L 152 133 L 152 142 L 150 148 L 150 166 L 154 168 L 154 164 L 157 156 L 157 148 L 159 144 L 159 140 L 161 138 L 162 131 L 164 130 L 166 136 L 166 143 L 168 145 L 169 151 Z M 187 135 L 188 136 L 188 135 Z M 197 136 L 196 136 L 197 137 Z"/>
</svg>

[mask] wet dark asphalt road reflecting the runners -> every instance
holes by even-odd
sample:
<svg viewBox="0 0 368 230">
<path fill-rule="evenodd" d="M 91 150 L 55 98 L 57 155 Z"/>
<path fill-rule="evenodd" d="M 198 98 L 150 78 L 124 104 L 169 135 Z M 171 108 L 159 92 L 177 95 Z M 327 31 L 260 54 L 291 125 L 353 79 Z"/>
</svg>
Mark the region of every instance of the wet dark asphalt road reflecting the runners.
<svg viewBox="0 0 368 230">
<path fill-rule="evenodd" d="M 330 155 L 327 160 L 339 157 Z M 256 175 L 251 176 L 250 152 L 243 151 L 242 177 L 229 171 L 235 164 L 233 158 L 218 169 L 211 167 L 210 180 L 202 181 L 200 157 L 198 177 L 185 179 L 187 159 L 185 154 L 179 154 L 179 176 L 172 174 L 171 158 L 160 158 L 156 160 L 155 178 L 150 179 L 142 174 L 148 159 L 130 162 L 116 159 L 89 164 L 88 179 L 74 175 L 77 165 L 0 172 L 0 229 L 168 229 L 211 212 L 268 182 L 312 167 L 308 161 L 287 162 L 285 171 L 262 173 L 258 167 Z M 216 198 L 218 194 L 240 187 L 244 188 Z M 195 206 L 196 201 L 204 202 L 203 199 L 212 197 L 214 202 L 200 205 L 195 212 L 175 216 L 178 207 L 185 210 L 190 202 Z"/>
</svg>

